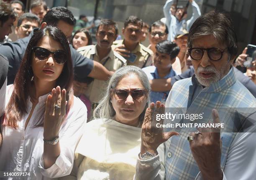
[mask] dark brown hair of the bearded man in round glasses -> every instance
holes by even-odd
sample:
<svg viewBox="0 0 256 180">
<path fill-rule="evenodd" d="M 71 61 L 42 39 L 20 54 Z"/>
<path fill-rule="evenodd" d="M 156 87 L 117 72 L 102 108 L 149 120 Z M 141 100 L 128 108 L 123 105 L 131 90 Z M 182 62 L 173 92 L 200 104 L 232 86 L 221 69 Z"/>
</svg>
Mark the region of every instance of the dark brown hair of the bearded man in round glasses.
<svg viewBox="0 0 256 180">
<path fill-rule="evenodd" d="M 237 53 L 237 37 L 231 18 L 215 10 L 201 15 L 192 24 L 187 39 L 187 45 L 192 48 L 193 40 L 205 35 L 213 35 L 215 39 L 228 46 L 231 56 Z"/>
</svg>

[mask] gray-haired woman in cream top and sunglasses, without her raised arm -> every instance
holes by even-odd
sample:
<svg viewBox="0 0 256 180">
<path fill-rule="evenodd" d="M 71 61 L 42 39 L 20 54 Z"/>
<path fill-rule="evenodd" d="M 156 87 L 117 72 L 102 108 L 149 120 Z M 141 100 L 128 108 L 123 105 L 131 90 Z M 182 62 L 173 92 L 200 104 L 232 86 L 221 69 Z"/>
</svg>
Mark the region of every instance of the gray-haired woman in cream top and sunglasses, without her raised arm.
<svg viewBox="0 0 256 180">
<path fill-rule="evenodd" d="M 112 75 L 95 119 L 86 124 L 75 150 L 73 178 L 133 179 L 149 91 L 148 78 L 139 67 L 125 66 Z M 71 175 L 66 178 L 72 179 Z"/>
</svg>

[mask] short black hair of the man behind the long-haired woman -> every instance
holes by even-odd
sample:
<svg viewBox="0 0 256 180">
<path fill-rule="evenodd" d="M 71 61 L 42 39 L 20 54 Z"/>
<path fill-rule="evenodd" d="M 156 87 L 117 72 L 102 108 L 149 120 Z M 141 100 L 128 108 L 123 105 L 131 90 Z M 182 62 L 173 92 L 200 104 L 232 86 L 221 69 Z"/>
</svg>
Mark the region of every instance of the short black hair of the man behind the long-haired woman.
<svg viewBox="0 0 256 180">
<path fill-rule="evenodd" d="M 53 7 L 44 16 L 42 23 L 47 25 L 56 26 L 59 20 L 68 23 L 69 25 L 75 25 L 76 20 L 74 15 L 67 7 Z"/>
</svg>

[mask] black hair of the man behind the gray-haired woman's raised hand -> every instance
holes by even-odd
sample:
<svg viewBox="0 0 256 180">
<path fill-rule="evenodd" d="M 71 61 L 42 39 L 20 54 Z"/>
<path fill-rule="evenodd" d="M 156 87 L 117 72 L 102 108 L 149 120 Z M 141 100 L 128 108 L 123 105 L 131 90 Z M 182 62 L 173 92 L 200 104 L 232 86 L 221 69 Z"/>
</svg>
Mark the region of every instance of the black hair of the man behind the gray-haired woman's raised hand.
<svg viewBox="0 0 256 180">
<path fill-rule="evenodd" d="M 171 60 L 179 54 L 179 46 L 175 42 L 168 40 L 160 41 L 156 44 L 156 50 L 163 54 L 168 54 Z"/>
</svg>

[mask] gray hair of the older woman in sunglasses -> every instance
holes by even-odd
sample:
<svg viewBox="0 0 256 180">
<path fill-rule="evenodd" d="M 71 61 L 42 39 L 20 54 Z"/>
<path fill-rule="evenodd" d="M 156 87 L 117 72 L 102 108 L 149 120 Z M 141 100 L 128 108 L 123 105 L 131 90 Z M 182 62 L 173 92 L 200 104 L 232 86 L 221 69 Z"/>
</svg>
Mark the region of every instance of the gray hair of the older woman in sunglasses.
<svg viewBox="0 0 256 180">
<path fill-rule="evenodd" d="M 149 84 L 148 77 L 145 74 L 145 72 L 143 72 L 143 70 L 141 70 L 141 68 L 136 67 L 136 66 L 125 66 L 125 67 L 121 67 L 120 69 L 115 71 L 115 73 L 112 75 L 112 77 L 109 80 L 108 87 L 105 92 L 105 96 L 100 100 L 99 105 L 96 107 L 96 109 L 93 112 L 94 119 L 98 119 L 98 118 L 110 119 L 115 116 L 115 110 L 113 108 L 112 103 L 110 102 L 111 89 L 114 89 L 118 85 L 120 80 L 122 80 L 124 77 L 129 76 L 131 74 L 137 75 L 138 79 L 141 81 L 141 84 L 148 91 L 146 106 L 145 106 L 143 112 L 141 113 L 141 115 L 139 116 L 140 122 L 141 123 L 143 122 L 146 109 L 147 109 L 148 105 L 150 104 L 150 100 L 149 100 L 150 84 Z"/>
</svg>

